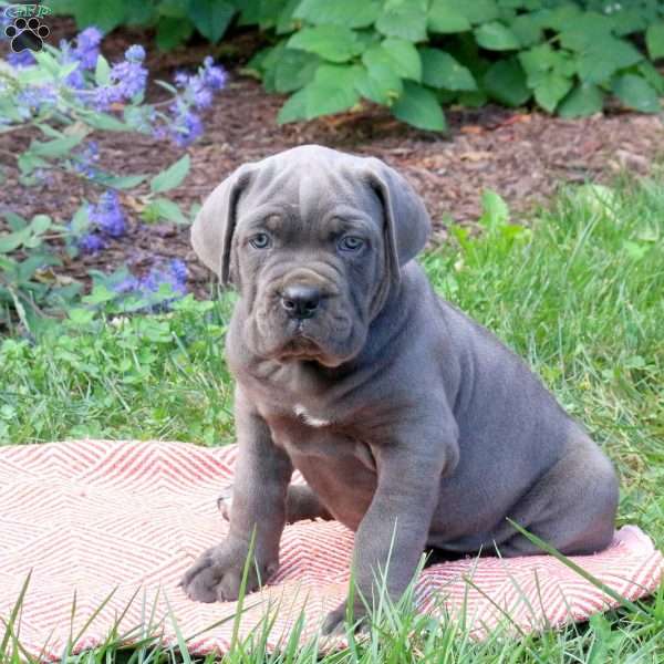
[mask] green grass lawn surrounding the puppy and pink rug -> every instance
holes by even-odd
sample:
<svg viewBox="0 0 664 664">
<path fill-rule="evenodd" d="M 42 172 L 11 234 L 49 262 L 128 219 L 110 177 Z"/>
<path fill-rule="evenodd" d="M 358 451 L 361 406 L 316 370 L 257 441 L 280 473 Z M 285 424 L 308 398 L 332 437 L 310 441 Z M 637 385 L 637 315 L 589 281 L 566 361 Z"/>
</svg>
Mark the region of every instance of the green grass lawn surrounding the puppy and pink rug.
<svg viewBox="0 0 664 664">
<path fill-rule="evenodd" d="M 619 468 L 620 522 L 640 525 L 664 548 L 661 181 L 567 189 L 529 228 L 511 226 L 504 204 L 487 194 L 484 232 L 455 228 L 450 242 L 422 263 L 438 292 L 523 356 L 585 424 Z M 115 321 L 81 309 L 37 343 L 4 340 L 0 440 L 232 440 L 232 383 L 222 351 L 230 305 L 229 297 L 215 303 L 187 299 L 168 315 Z M 520 641 L 497 634 L 476 644 L 463 631 L 432 629 L 405 609 L 378 623 L 367 644 L 325 663 L 664 662 L 664 591 L 639 610 Z M 1 662 L 11 661 L 12 647 L 0 647 Z M 113 640 L 85 657 L 72 662 L 187 661 L 177 649 L 121 652 Z M 315 658 L 312 646 L 273 661 Z M 238 645 L 228 656 L 263 661 L 260 644 Z"/>
</svg>

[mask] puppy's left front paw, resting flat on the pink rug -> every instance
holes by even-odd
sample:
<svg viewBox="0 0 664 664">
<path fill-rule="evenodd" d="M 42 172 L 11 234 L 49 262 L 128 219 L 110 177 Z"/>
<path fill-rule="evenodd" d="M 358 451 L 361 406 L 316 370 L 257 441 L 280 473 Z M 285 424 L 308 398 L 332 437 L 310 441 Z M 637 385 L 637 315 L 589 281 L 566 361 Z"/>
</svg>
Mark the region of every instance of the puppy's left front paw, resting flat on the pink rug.
<svg viewBox="0 0 664 664">
<path fill-rule="evenodd" d="M 180 585 L 195 602 L 237 600 L 249 549 L 243 542 L 226 540 L 205 551 L 187 570 Z M 247 592 L 253 592 L 277 571 L 278 561 L 251 561 Z"/>
</svg>

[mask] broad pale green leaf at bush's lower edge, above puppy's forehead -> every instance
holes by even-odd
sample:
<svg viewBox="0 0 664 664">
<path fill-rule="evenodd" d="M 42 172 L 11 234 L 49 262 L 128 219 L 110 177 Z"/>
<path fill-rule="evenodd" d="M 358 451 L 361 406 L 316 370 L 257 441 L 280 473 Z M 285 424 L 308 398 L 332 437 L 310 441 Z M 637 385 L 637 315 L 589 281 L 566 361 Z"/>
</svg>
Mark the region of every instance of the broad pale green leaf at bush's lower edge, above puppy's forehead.
<svg viewBox="0 0 664 664">
<path fill-rule="evenodd" d="M 319 66 L 313 81 L 302 89 L 307 91 L 307 118 L 340 113 L 354 106 L 360 101 L 355 83 L 361 72 L 357 65 Z"/>
</svg>

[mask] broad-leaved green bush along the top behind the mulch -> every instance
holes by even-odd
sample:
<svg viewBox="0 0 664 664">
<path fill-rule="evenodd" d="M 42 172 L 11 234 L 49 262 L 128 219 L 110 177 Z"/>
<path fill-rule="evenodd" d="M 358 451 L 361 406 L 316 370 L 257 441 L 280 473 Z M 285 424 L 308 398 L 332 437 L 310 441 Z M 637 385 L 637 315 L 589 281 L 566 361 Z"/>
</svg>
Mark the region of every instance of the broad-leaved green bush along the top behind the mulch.
<svg viewBox="0 0 664 664">
<path fill-rule="evenodd" d="M 55 0 L 80 27 L 156 29 L 168 49 L 195 30 L 217 42 L 229 25 L 272 42 L 249 64 L 268 91 L 291 94 L 280 122 L 387 106 L 443 131 L 443 107 L 533 103 L 566 117 L 622 105 L 657 112 L 664 8 L 656 0 Z"/>
</svg>

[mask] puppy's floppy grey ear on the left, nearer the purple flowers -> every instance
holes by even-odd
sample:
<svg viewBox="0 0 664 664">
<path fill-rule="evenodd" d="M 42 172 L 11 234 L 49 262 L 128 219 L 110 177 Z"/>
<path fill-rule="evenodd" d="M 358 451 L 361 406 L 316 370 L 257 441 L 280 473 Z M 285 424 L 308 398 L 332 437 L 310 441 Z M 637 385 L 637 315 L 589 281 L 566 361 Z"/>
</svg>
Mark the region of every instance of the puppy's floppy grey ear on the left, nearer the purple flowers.
<svg viewBox="0 0 664 664">
<path fill-rule="evenodd" d="M 227 177 L 207 197 L 191 226 L 191 245 L 198 258 L 230 283 L 230 247 L 236 227 L 238 200 L 251 178 L 251 166 L 245 164 Z"/>
</svg>

